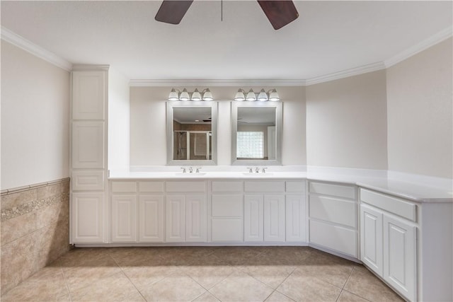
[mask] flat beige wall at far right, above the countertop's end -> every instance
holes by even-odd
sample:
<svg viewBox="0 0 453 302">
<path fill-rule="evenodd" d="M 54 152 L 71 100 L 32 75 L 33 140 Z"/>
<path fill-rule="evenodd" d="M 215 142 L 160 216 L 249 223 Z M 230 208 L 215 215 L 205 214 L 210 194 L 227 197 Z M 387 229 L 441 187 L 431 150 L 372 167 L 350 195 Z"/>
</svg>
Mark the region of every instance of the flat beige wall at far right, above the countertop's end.
<svg viewBox="0 0 453 302">
<path fill-rule="evenodd" d="M 453 178 L 452 38 L 386 72 L 389 170 Z"/>
</svg>

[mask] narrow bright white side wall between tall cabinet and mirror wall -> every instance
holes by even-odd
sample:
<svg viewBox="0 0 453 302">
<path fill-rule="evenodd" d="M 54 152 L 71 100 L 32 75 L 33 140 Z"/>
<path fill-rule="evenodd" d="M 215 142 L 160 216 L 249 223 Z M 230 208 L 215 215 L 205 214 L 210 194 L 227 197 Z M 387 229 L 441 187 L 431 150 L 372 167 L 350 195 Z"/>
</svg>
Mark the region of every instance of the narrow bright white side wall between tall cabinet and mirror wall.
<svg viewBox="0 0 453 302">
<path fill-rule="evenodd" d="M 129 168 L 129 80 L 108 71 L 108 168 Z"/>
</svg>

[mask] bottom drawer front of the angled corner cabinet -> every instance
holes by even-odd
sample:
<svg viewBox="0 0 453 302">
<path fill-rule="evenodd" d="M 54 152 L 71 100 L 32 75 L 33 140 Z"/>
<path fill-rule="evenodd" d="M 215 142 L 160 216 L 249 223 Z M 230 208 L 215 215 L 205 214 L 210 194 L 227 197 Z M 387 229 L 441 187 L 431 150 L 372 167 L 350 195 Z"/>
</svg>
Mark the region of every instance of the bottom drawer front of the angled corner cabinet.
<svg viewBox="0 0 453 302">
<path fill-rule="evenodd" d="M 357 258 L 357 232 L 320 221 L 310 221 L 310 243 Z"/>
</svg>

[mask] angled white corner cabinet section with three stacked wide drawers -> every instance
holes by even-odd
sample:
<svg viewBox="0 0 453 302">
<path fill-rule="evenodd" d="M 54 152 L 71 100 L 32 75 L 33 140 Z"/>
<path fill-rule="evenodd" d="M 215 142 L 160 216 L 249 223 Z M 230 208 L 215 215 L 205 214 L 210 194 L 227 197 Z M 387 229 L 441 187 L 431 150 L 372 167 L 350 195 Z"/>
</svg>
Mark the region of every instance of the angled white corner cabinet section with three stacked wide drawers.
<svg viewBox="0 0 453 302">
<path fill-rule="evenodd" d="M 309 242 L 358 258 L 357 188 L 309 182 Z"/>
</svg>

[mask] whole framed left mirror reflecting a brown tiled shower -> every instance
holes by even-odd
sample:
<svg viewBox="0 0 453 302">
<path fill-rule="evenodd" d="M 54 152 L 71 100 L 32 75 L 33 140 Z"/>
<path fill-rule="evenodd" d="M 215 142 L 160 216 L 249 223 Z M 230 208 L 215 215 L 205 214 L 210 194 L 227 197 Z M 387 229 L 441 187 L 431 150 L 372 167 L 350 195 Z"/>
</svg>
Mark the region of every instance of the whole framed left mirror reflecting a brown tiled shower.
<svg viewBox="0 0 453 302">
<path fill-rule="evenodd" d="M 217 163 L 217 102 L 167 102 L 167 164 Z"/>
</svg>

